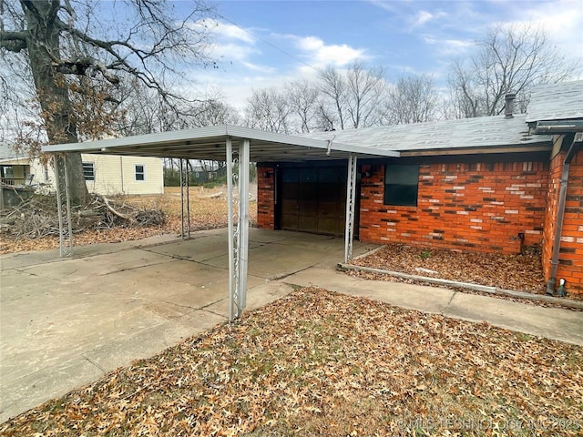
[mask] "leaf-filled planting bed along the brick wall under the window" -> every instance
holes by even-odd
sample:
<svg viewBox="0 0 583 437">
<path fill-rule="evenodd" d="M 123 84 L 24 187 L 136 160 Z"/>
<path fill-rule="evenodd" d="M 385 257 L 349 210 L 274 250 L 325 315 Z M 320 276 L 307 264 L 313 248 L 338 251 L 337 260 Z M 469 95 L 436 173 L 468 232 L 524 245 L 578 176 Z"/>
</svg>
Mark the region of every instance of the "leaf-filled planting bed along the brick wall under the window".
<svg viewBox="0 0 583 437">
<path fill-rule="evenodd" d="M 352 263 L 361 267 L 451 279 L 506 290 L 537 294 L 544 294 L 546 291 L 540 252 L 537 250 L 502 255 L 392 243 L 367 257 L 355 259 Z"/>
</svg>

